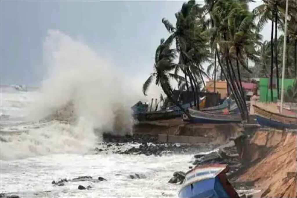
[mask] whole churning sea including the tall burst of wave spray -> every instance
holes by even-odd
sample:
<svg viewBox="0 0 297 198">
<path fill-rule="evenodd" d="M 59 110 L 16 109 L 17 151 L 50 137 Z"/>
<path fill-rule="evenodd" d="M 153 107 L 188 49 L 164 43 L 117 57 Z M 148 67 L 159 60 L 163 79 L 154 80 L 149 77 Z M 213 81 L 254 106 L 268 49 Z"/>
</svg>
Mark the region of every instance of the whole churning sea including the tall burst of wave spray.
<svg viewBox="0 0 297 198">
<path fill-rule="evenodd" d="M 131 133 L 130 107 L 143 99 L 143 82 L 133 83 L 89 46 L 60 31 L 50 30 L 43 46 L 45 75 L 40 87 L 0 90 L 1 193 L 20 197 L 177 197 L 180 186 L 168 180 L 175 171 L 187 171 L 193 155 L 94 152 L 96 147 L 106 147 L 100 131 Z M 132 146 L 126 144 L 122 149 Z M 135 173 L 145 177 L 132 180 L 129 175 Z M 100 176 L 107 181 L 51 184 L 79 176 Z M 92 188 L 78 190 L 78 185 Z"/>
</svg>

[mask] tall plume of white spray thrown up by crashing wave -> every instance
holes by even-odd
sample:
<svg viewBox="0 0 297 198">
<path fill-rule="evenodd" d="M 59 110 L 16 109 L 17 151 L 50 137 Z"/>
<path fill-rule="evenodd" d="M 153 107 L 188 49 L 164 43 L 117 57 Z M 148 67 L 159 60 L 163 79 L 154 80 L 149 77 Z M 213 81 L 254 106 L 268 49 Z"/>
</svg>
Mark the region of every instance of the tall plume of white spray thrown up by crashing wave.
<svg viewBox="0 0 297 198">
<path fill-rule="evenodd" d="M 114 131 L 116 119 L 121 119 L 123 131 L 130 131 L 130 107 L 136 95 L 116 68 L 59 31 L 48 32 L 44 48 L 47 76 L 41 88 L 43 114 L 72 102 L 75 114 L 94 127 Z"/>
</svg>

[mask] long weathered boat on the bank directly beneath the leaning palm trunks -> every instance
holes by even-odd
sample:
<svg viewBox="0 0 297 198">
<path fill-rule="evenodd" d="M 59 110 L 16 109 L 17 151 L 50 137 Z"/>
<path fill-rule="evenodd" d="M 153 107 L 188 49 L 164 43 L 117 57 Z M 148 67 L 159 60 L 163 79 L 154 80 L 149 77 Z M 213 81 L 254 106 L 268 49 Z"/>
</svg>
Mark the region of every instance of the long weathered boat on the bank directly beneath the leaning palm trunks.
<svg viewBox="0 0 297 198">
<path fill-rule="evenodd" d="M 195 109 L 188 108 L 189 114 L 192 119 L 189 120 L 187 115 L 183 115 L 184 121 L 191 121 L 193 123 L 240 123 L 242 121 L 241 115 L 239 114 L 214 114 L 207 113 Z"/>
</svg>

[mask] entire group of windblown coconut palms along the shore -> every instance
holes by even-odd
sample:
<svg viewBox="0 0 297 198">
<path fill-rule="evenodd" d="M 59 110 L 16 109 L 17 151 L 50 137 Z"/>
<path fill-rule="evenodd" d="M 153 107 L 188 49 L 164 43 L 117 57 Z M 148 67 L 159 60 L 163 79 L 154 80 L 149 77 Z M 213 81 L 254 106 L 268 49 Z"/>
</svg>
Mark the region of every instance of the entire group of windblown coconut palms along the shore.
<svg viewBox="0 0 297 198">
<path fill-rule="evenodd" d="M 176 23 L 163 18 L 169 32 L 161 39 L 155 53 L 154 72 L 143 84 L 143 93 L 151 83 L 160 86 L 167 99 L 190 115 L 173 97 L 172 80 L 180 91 L 193 93 L 194 106 L 199 110 L 199 93 L 204 79 L 226 80 L 228 95 L 236 101 L 243 120 L 249 120 L 242 83 L 252 77 L 281 76 L 283 32 L 286 1 L 262 1 L 254 10 L 244 0 L 195 0 L 185 2 L 175 14 Z M 296 77 L 296 1 L 289 1 L 286 77 Z M 263 40 L 260 32 L 271 23 L 271 40 Z M 252 63 L 252 64 L 250 64 Z M 253 66 L 249 66 L 253 65 Z M 277 83 L 277 94 L 279 90 Z M 216 85 L 214 85 L 216 92 Z"/>
</svg>

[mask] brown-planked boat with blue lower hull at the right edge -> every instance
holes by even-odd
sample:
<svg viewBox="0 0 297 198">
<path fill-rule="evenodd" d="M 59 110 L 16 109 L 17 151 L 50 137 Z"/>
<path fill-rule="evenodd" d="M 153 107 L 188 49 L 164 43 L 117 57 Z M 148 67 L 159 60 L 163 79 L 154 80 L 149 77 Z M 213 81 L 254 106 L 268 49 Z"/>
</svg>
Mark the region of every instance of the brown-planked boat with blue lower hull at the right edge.
<svg viewBox="0 0 297 198">
<path fill-rule="evenodd" d="M 277 129 L 296 129 L 297 118 L 293 116 L 281 115 L 279 113 L 272 113 L 268 110 L 262 109 L 253 105 L 257 122 L 263 126 L 269 126 Z"/>
</svg>

